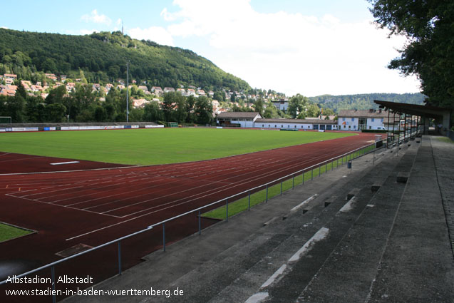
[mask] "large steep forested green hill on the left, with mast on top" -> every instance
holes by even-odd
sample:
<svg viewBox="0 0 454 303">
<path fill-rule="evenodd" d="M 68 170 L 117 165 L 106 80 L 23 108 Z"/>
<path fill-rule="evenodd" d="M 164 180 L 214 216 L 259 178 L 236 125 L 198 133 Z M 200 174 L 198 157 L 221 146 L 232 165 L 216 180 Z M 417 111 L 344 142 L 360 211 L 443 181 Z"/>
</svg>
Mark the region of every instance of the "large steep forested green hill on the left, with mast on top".
<svg viewBox="0 0 454 303">
<path fill-rule="evenodd" d="M 70 78 L 83 71 L 88 83 L 108 83 L 126 78 L 128 60 L 130 77 L 150 86 L 249 89 L 246 81 L 193 51 L 135 40 L 120 31 L 72 36 L 0 29 L 0 74 L 24 80 L 33 80 L 36 71 Z"/>
</svg>

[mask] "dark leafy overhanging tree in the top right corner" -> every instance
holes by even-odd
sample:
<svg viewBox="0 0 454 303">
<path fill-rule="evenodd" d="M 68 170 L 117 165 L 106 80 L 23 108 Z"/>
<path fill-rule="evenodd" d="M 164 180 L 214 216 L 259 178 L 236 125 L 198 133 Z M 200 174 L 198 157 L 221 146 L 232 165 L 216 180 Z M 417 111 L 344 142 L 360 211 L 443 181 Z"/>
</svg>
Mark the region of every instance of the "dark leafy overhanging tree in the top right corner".
<svg viewBox="0 0 454 303">
<path fill-rule="evenodd" d="M 380 27 L 403 34 L 408 43 L 389 63 L 421 81 L 426 103 L 454 108 L 454 2 L 368 0 Z"/>
</svg>

